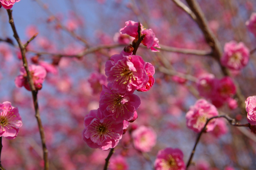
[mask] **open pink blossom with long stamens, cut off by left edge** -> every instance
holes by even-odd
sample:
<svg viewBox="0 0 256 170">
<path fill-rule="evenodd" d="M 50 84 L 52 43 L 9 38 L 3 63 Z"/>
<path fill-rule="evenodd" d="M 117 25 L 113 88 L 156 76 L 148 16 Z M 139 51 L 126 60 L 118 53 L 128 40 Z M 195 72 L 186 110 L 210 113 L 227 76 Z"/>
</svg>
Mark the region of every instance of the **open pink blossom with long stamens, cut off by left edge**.
<svg viewBox="0 0 256 170">
<path fill-rule="evenodd" d="M 18 107 L 12 107 L 9 101 L 0 103 L 0 137 L 14 139 L 22 126 Z"/>
</svg>

